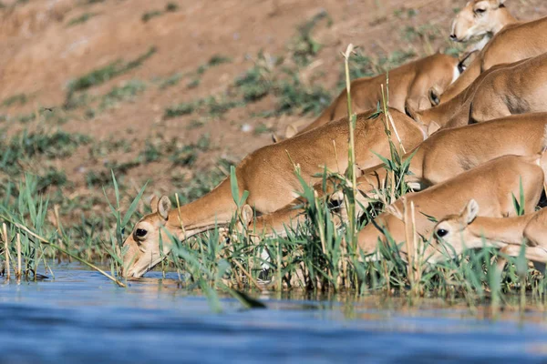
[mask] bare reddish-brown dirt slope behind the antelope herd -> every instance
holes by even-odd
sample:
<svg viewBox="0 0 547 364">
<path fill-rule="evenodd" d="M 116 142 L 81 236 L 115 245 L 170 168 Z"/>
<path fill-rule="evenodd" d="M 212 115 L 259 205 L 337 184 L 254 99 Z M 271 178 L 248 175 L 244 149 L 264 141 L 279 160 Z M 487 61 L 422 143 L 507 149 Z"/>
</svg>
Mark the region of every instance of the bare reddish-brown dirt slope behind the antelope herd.
<svg viewBox="0 0 547 364">
<path fill-rule="evenodd" d="M 298 26 L 321 13 L 328 15 L 328 21 L 318 22 L 312 32 L 321 48 L 308 64 L 297 67 L 296 75 L 304 86 L 321 86 L 335 96 L 342 67 L 340 52 L 348 43 L 358 45 L 360 52 L 373 60 L 401 51 L 412 52 L 415 56 L 411 58 L 417 58 L 438 49 L 447 50 L 453 46 L 448 41 L 450 21 L 465 3 L 2 0 L 0 115 L 4 121 L 0 127 L 5 138 L 23 129 L 60 129 L 92 137 L 88 145 L 77 147 L 68 157 L 23 164 L 35 173 L 45 166 L 64 173 L 67 182 L 58 188 L 68 199 L 100 197 L 100 182 L 89 182 L 89 173 L 108 172 L 112 162 L 134 160 L 147 143 L 160 148 L 174 139 L 178 147 L 195 146 L 207 136 L 207 147 L 201 147 L 193 163 L 174 165 L 170 152 L 166 152 L 119 172 L 129 195 L 147 180 L 147 194 L 173 195 L 204 171 L 217 168 L 226 173 L 226 167 L 219 165 L 220 158 L 235 163 L 271 143 L 270 131 L 283 134 L 285 126 L 302 119 L 311 122 L 314 115 L 302 116 L 296 110 L 265 117 L 262 113 L 279 102 L 272 94 L 222 113 L 199 111 L 166 117 L 168 107 L 209 96 L 238 99 L 233 96 L 237 94 L 235 80 L 258 62 L 257 55 L 262 51 L 265 59 L 290 58 Z M 545 3 L 510 0 L 507 5 L 517 17 L 533 19 L 547 14 Z M 109 76 L 105 82 L 77 94 L 85 92 L 88 97 L 100 99 L 115 87 L 139 80 L 143 89 L 135 95 L 124 96 L 108 107 L 97 106 L 98 101 L 75 110 L 63 106 L 71 80 L 117 60 L 134 60 L 151 47 L 155 52 L 139 66 Z M 213 56 L 228 61 L 200 70 Z M 272 69 L 277 73 L 282 67 Z M 174 77 L 172 85 L 161 86 L 170 77 Z M 37 117 L 24 122 L 25 115 Z M 128 146 L 114 147 L 117 140 L 124 140 Z M 90 150 L 98 146 L 106 147 L 93 155 Z"/>
</svg>

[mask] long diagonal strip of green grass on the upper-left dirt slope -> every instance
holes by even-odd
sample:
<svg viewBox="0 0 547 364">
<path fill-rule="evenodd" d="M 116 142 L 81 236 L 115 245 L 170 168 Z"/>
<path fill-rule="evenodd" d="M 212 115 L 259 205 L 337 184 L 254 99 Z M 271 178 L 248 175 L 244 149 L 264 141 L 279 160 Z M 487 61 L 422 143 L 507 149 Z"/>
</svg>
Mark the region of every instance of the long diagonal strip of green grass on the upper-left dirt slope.
<svg viewBox="0 0 547 364">
<path fill-rule="evenodd" d="M 150 47 L 150 49 L 146 53 L 138 56 L 137 58 L 129 62 L 123 62 L 122 60 L 114 61 L 107 66 L 100 67 L 89 72 L 87 75 L 71 80 L 68 83 L 66 105 L 70 105 L 70 100 L 77 91 L 87 90 L 90 87 L 104 84 L 105 82 L 116 76 L 123 75 L 130 70 L 142 65 L 144 61 L 149 59 L 150 56 L 153 56 L 155 53 L 156 48 Z"/>
</svg>

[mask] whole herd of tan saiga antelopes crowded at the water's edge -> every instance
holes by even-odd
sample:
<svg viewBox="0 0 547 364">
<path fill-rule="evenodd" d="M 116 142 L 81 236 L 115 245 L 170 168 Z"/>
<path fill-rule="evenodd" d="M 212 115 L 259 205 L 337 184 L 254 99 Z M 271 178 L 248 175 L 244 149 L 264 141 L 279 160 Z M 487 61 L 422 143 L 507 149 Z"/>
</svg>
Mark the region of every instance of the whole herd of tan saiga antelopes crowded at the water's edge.
<svg viewBox="0 0 547 364">
<path fill-rule="evenodd" d="M 387 236 L 397 243 L 407 239 L 403 205 L 411 203 L 414 228 L 429 243 L 425 256 L 430 263 L 484 244 L 509 256 L 517 256 L 525 244 L 526 258 L 547 263 L 547 214 L 534 212 L 547 186 L 547 36 L 542 36 L 547 17 L 520 22 L 504 3 L 472 0 L 456 16 L 450 27 L 453 41 L 480 39 L 461 61 L 437 54 L 389 71 L 387 115 L 376 113 L 386 75 L 352 82 L 358 205 L 366 207 L 387 178 L 378 156 L 390 157 L 390 147 L 378 117 L 397 130 L 397 143 L 411 156 L 404 178 L 418 191 L 398 199 L 358 233 L 364 255 L 378 257 L 378 244 Z M 466 69 L 463 63 L 471 58 Z M 315 176 L 325 169 L 346 170 L 346 104 L 345 90 L 313 123 L 289 126 L 283 141 L 243 158 L 235 175 L 239 190 L 249 192 L 245 228 L 277 236 L 305 218 L 298 208 L 301 185 L 295 165 L 317 193 L 325 191 L 322 178 Z M 341 194 L 326 193 L 331 198 Z M 520 194 L 525 215 L 516 217 L 513 196 Z M 139 278 L 160 263 L 170 252 L 169 235 L 186 239 L 227 227 L 236 212 L 228 178 L 180 208 L 172 208 L 168 197 L 153 197 L 150 207 L 152 213 L 124 242 L 126 277 Z M 401 247 L 405 258 L 407 246 Z M 504 264 L 501 259 L 499 266 Z"/>
</svg>

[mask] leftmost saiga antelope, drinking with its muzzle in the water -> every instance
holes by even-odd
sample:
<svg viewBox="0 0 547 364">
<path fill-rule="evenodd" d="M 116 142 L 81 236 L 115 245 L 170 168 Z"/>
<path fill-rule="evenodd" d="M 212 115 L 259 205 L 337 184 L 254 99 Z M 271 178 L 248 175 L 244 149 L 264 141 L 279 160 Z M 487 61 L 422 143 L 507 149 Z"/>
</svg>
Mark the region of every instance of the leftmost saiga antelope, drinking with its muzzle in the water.
<svg viewBox="0 0 547 364">
<path fill-rule="evenodd" d="M 356 163 L 364 168 L 380 161 L 372 151 L 381 156 L 389 155 L 384 117 L 369 118 L 370 114 L 357 116 L 355 132 Z M 416 147 L 424 139 L 423 131 L 408 116 L 396 110 L 391 110 L 391 115 L 405 147 Z M 250 192 L 247 203 L 259 214 L 271 213 L 290 204 L 297 196 L 294 191 L 301 189 L 294 167 L 299 167 L 304 180 L 310 183 L 319 180 L 313 176 L 323 172 L 325 167 L 344 172 L 347 137 L 348 122 L 341 119 L 254 151 L 235 168 L 240 193 Z M 165 206 L 161 208 L 166 209 Z M 146 239 L 139 241 L 132 234 L 124 242 L 124 246 L 129 247 L 129 254 L 124 258 L 127 276 L 140 277 L 160 262 L 159 227 L 183 239 L 215 226 L 226 226 L 235 211 L 230 180 L 225 179 L 204 197 L 170 210 L 167 219 L 160 216 L 161 208 L 158 205 L 158 212 L 143 217 L 135 227 L 134 232 L 143 225 L 142 228 L 150 230 Z M 162 241 L 165 251 L 169 252 L 169 239 L 162 236 Z"/>
</svg>

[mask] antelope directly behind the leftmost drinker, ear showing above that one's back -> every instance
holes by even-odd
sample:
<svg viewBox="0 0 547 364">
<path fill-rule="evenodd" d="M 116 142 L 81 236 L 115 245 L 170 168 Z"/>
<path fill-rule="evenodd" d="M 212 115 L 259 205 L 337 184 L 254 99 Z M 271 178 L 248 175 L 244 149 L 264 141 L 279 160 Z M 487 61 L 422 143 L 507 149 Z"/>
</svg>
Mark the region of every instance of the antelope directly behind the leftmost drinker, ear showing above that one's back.
<svg viewBox="0 0 547 364">
<path fill-rule="evenodd" d="M 405 112 L 408 102 L 417 109 L 430 107 L 428 89 L 435 87 L 444 91 L 454 80 L 458 71 L 458 59 L 436 54 L 410 62 L 389 71 L 389 104 L 388 106 Z M 459 75 L 459 74 L 458 74 Z M 369 78 L 358 78 L 351 83 L 353 112 L 361 113 L 377 108 L 382 102 L 381 86 L 386 87 L 386 75 Z M 344 89 L 335 101 L 312 124 L 304 127 L 300 133 L 322 126 L 332 120 L 347 116 L 347 92 Z M 297 125 L 287 127 L 285 136 L 297 134 Z"/>
</svg>

